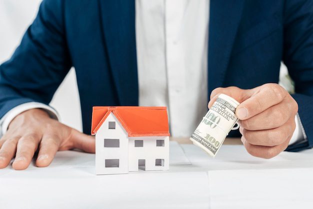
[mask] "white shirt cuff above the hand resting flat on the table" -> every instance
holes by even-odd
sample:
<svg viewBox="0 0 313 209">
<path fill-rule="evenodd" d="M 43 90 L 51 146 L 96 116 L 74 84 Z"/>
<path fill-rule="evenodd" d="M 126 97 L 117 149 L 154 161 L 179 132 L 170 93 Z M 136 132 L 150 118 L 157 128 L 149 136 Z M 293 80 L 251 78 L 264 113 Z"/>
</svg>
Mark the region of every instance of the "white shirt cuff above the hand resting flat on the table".
<svg viewBox="0 0 313 209">
<path fill-rule="evenodd" d="M 40 102 L 35 102 L 35 101 L 26 102 L 26 103 L 13 107 L 8 112 L 6 112 L 6 114 L 4 114 L 4 116 L 0 119 L 1 135 L 3 135 L 6 132 L 8 125 L 10 124 L 12 119 L 14 119 L 16 115 L 18 115 L 19 113 L 23 111 L 26 111 L 28 109 L 33 109 L 33 108 L 41 108 L 45 110 L 51 118 L 59 120 L 58 113 L 51 106 L 40 103 Z"/>
</svg>

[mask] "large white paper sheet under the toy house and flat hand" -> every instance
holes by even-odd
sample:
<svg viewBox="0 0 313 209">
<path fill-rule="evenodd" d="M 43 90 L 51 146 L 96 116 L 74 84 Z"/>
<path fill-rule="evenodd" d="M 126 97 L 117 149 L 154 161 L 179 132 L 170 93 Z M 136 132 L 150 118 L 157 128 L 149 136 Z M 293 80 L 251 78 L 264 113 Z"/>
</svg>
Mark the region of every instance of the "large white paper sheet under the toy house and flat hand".
<svg viewBox="0 0 313 209">
<path fill-rule="evenodd" d="M 207 208 L 206 172 L 175 172 L 190 164 L 170 142 L 173 171 L 95 175 L 94 154 L 57 152 L 50 166 L 0 169 L 0 208 Z"/>
</svg>

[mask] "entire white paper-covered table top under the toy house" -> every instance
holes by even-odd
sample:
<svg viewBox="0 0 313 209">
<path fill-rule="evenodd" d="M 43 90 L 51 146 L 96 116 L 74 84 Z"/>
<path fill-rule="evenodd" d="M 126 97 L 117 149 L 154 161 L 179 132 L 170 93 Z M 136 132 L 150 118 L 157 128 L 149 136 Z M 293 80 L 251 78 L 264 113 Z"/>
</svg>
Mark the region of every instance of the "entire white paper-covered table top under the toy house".
<svg viewBox="0 0 313 209">
<path fill-rule="evenodd" d="M 94 154 L 59 151 L 45 168 L 0 169 L 0 208 L 312 208 L 312 149 L 261 159 L 240 143 L 212 158 L 173 138 L 169 170 L 116 175 L 95 175 Z"/>
</svg>

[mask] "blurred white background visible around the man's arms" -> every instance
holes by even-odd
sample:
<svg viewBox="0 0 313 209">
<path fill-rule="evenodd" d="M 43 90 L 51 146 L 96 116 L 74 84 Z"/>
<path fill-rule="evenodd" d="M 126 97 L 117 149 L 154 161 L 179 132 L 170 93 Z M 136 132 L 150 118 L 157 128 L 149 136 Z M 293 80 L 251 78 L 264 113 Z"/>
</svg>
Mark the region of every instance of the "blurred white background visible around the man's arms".
<svg viewBox="0 0 313 209">
<path fill-rule="evenodd" d="M 40 2 L 41 0 L 0 0 L 0 63 L 7 60 L 19 44 L 26 28 L 34 19 Z M 285 77 L 285 66 L 282 65 L 281 69 L 280 77 Z M 289 86 L 289 81 L 283 79 L 281 84 Z M 287 88 L 290 90 L 290 87 Z M 63 123 L 82 129 L 74 69 L 70 70 L 50 104 L 58 111 Z"/>
</svg>

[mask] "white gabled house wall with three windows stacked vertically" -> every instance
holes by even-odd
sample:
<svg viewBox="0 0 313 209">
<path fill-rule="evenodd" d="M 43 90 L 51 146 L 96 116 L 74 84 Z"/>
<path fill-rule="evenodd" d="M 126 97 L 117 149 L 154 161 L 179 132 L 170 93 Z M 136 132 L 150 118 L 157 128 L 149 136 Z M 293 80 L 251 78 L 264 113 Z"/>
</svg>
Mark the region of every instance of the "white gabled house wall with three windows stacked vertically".
<svg viewBox="0 0 313 209">
<path fill-rule="evenodd" d="M 115 129 L 108 128 L 108 122 L 115 121 Z M 119 139 L 119 147 L 104 147 L 104 138 Z M 119 167 L 105 167 L 105 159 L 119 159 Z M 114 174 L 128 172 L 128 134 L 110 113 L 95 134 L 95 172 Z"/>
</svg>

